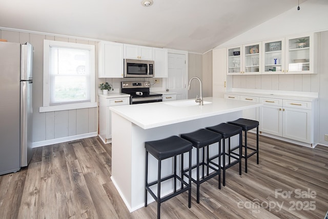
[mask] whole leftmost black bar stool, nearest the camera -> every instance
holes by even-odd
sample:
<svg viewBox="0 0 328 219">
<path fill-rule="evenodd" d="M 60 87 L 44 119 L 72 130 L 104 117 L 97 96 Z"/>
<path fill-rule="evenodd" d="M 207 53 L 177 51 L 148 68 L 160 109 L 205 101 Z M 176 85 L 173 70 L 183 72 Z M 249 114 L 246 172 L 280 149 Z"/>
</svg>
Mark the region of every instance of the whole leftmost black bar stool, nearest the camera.
<svg viewBox="0 0 328 219">
<path fill-rule="evenodd" d="M 145 177 L 145 207 L 147 207 L 147 192 L 149 192 L 155 201 L 157 202 L 157 218 L 160 218 L 160 204 L 169 200 L 170 198 L 189 190 L 188 198 L 188 207 L 191 208 L 191 177 L 189 177 L 189 182 L 183 180 L 183 154 L 189 152 L 189 167 L 186 171 L 189 171 L 191 175 L 191 150 L 192 143 L 187 140 L 182 139 L 178 136 L 171 136 L 164 138 L 162 140 L 145 142 L 146 148 L 146 177 Z M 148 183 L 148 153 L 152 154 L 158 160 L 158 171 L 157 171 L 157 180 Z M 176 173 L 176 157 L 181 155 L 181 177 Z M 167 158 L 174 157 L 174 170 L 173 173 L 169 176 L 161 178 L 161 161 Z M 167 181 L 173 178 L 174 180 L 174 191 L 171 194 L 168 194 L 164 197 L 160 196 L 160 184 L 163 181 Z M 176 189 L 176 180 L 181 182 L 181 188 L 177 191 Z M 153 185 L 157 184 L 157 195 L 154 194 L 150 188 Z"/>
</svg>

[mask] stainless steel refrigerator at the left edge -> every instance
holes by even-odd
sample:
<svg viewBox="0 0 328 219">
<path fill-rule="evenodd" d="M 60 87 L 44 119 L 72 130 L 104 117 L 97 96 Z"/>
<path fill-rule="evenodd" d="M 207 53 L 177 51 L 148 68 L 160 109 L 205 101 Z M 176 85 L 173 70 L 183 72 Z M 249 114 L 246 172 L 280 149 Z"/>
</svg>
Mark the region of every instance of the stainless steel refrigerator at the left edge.
<svg viewBox="0 0 328 219">
<path fill-rule="evenodd" d="M 0 175 L 30 162 L 32 149 L 31 44 L 0 42 Z"/>
</svg>

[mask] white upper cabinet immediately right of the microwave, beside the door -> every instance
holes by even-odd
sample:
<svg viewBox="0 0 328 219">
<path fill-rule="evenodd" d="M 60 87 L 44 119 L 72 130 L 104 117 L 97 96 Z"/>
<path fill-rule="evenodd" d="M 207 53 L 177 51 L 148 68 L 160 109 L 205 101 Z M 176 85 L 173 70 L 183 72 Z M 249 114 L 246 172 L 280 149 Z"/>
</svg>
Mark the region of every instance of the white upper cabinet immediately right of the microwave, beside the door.
<svg viewBox="0 0 328 219">
<path fill-rule="evenodd" d="M 168 77 L 168 50 L 153 48 L 154 77 Z"/>
</svg>

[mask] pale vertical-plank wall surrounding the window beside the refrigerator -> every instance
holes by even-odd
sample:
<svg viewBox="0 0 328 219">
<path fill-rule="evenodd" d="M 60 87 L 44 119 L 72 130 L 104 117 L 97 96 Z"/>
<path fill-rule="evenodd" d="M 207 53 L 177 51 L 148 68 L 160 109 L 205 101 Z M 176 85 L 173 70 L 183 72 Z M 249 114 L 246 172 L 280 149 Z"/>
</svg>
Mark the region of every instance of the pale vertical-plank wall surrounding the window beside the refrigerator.
<svg viewBox="0 0 328 219">
<path fill-rule="evenodd" d="M 95 41 L 36 34 L 29 32 L 0 30 L 0 38 L 8 42 L 26 42 L 33 45 L 33 145 L 43 146 L 97 135 L 97 108 L 63 110 L 39 113 L 43 106 L 43 41 L 50 39 L 71 43 L 95 45 Z M 97 46 L 95 47 L 97 51 Z M 96 52 L 97 58 L 97 52 Z M 96 78 L 97 78 L 96 62 Z M 96 80 L 97 81 L 97 80 Z M 97 89 L 97 87 L 96 87 Z M 96 90 L 98 93 L 98 90 Z"/>
</svg>

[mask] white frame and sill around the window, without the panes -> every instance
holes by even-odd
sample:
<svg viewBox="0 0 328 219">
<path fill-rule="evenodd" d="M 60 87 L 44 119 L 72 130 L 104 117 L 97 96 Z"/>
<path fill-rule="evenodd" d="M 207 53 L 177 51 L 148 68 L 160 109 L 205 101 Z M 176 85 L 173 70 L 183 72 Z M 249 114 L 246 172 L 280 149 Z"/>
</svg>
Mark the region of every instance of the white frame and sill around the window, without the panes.
<svg viewBox="0 0 328 219">
<path fill-rule="evenodd" d="M 68 47 L 75 49 L 90 50 L 90 102 L 60 104 L 50 106 L 50 75 L 49 75 L 49 52 L 51 46 Z M 44 69 L 43 69 L 43 107 L 39 112 L 51 112 L 59 110 L 83 109 L 97 107 L 95 102 L 95 46 L 88 44 L 68 43 L 61 41 L 50 41 L 44 39 Z"/>
</svg>

